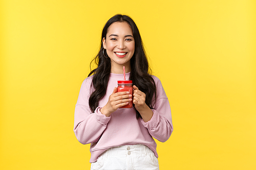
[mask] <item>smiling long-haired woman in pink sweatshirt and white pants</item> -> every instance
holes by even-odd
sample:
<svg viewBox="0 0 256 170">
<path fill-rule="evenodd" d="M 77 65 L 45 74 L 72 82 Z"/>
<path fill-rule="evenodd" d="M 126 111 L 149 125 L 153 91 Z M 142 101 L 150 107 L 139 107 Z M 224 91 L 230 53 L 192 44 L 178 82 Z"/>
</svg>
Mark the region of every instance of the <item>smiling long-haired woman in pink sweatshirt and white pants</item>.
<svg viewBox="0 0 256 170">
<path fill-rule="evenodd" d="M 98 67 L 81 85 L 75 107 L 74 132 L 91 143 L 91 169 L 159 169 L 157 140 L 173 131 L 170 106 L 160 80 L 150 75 L 139 30 L 126 15 L 106 22 Z M 117 81 L 133 81 L 133 95 L 117 92 Z M 133 108 L 120 107 L 133 102 Z"/>
</svg>

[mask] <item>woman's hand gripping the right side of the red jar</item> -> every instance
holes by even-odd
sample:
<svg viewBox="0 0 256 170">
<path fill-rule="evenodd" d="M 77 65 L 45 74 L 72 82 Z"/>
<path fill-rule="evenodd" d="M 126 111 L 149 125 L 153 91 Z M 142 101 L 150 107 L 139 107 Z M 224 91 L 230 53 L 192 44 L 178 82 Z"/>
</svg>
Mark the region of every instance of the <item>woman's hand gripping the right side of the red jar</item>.
<svg viewBox="0 0 256 170">
<path fill-rule="evenodd" d="M 145 103 L 146 94 L 140 91 L 139 88 L 135 85 L 133 85 L 133 88 L 133 104 L 135 105 L 135 108 L 140 112 L 147 106 Z"/>
</svg>

